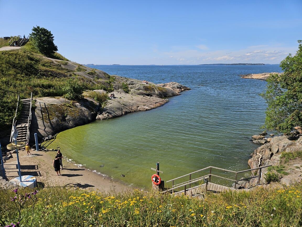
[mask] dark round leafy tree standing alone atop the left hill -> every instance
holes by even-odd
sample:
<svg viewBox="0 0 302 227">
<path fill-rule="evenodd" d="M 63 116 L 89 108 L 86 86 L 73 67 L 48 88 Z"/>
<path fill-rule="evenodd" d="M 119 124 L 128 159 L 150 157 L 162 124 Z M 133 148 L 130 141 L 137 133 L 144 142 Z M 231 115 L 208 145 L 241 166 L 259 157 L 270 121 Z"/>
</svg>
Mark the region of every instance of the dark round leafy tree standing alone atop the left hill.
<svg viewBox="0 0 302 227">
<path fill-rule="evenodd" d="M 30 35 L 33 46 L 42 54 L 48 56 L 58 50 L 57 46 L 53 43 L 53 34 L 46 28 L 41 28 L 40 26 L 34 27 Z"/>
</svg>

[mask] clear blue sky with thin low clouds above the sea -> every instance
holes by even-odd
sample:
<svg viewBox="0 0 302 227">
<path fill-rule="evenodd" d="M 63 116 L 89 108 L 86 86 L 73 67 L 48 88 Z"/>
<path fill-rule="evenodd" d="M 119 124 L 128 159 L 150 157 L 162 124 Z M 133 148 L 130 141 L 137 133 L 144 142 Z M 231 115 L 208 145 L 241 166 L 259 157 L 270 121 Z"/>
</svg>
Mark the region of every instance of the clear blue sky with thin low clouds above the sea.
<svg viewBox="0 0 302 227">
<path fill-rule="evenodd" d="M 302 0 L 0 0 L 0 37 L 50 30 L 81 64 L 278 64 L 302 39 Z"/>
</svg>

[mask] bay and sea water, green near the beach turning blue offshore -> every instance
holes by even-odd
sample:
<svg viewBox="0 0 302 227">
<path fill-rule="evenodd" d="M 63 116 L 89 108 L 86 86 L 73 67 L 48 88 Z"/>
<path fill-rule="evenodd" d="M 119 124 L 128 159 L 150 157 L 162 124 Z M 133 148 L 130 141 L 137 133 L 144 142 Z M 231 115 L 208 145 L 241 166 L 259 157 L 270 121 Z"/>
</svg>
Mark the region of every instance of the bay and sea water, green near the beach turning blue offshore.
<svg viewBox="0 0 302 227">
<path fill-rule="evenodd" d="M 192 89 L 153 110 L 63 131 L 49 146 L 60 146 L 80 166 L 141 188 L 151 185 L 156 162 L 165 181 L 207 166 L 248 169 L 249 155 L 258 147 L 249 138 L 261 133 L 265 120 L 267 105 L 259 94 L 266 82 L 238 75 L 281 72 L 279 65 L 93 67 L 154 83 L 177 81 Z"/>
</svg>

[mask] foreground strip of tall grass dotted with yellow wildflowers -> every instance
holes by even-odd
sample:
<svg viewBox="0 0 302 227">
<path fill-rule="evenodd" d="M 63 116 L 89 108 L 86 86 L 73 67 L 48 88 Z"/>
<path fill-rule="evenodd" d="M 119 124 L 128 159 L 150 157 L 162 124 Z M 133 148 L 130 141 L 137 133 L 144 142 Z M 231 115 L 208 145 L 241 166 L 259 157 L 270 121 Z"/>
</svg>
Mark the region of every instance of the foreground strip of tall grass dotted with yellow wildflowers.
<svg viewBox="0 0 302 227">
<path fill-rule="evenodd" d="M 194 199 L 139 190 L 104 194 L 51 187 L 31 195 L 19 215 L 11 201 L 16 194 L 1 189 L 0 219 L 3 226 L 21 219 L 21 226 L 45 227 L 301 226 L 301 190 L 301 184 L 282 189 L 259 187 L 252 191 L 207 193 L 204 199 Z M 16 204 L 22 205 L 18 201 Z"/>
</svg>

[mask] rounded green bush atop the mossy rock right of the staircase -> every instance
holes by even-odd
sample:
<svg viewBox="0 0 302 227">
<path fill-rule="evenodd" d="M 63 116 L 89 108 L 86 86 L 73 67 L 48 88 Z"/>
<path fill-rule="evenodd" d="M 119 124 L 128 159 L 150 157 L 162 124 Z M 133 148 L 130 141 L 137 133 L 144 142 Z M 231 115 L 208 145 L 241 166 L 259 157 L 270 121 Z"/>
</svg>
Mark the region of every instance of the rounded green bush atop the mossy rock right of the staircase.
<svg viewBox="0 0 302 227">
<path fill-rule="evenodd" d="M 84 87 L 77 79 L 68 79 L 63 87 L 64 97 L 69 100 L 76 100 L 82 97 Z"/>
</svg>

